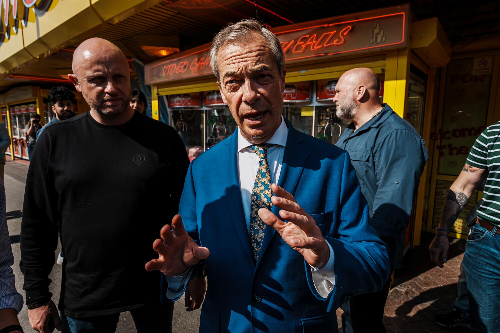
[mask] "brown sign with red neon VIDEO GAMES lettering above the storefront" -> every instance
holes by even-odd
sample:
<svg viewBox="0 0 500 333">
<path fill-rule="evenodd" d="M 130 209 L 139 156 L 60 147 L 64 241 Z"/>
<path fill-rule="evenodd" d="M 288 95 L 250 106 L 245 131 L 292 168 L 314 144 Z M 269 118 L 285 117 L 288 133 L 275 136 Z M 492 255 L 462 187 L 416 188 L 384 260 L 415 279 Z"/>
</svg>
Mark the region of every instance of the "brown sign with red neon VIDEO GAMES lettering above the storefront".
<svg viewBox="0 0 500 333">
<path fill-rule="evenodd" d="M 286 62 L 403 47 L 407 43 L 408 5 L 377 9 L 273 28 Z M 210 44 L 147 64 L 147 84 L 212 75 Z"/>
</svg>

